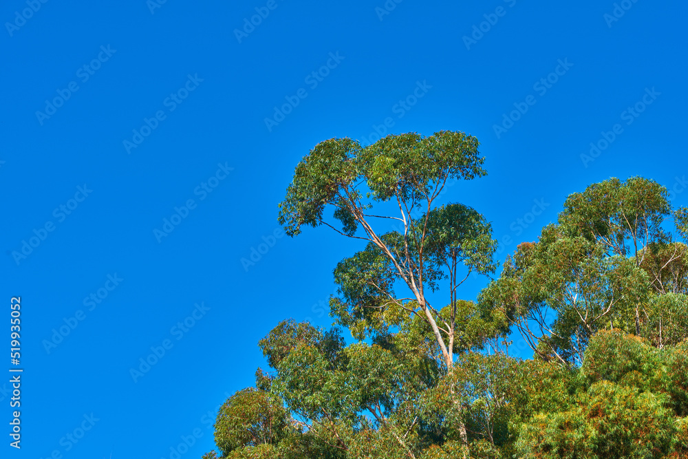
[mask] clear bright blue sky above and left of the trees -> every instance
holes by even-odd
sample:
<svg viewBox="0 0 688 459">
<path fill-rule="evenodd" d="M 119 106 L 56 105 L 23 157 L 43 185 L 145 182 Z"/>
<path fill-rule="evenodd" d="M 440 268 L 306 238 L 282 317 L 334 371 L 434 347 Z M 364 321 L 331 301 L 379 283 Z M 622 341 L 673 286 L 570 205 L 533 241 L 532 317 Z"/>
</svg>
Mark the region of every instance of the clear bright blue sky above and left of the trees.
<svg viewBox="0 0 688 459">
<path fill-rule="evenodd" d="M 502 260 L 612 176 L 688 204 L 685 3 L 449 3 L 3 2 L 0 288 L 21 296 L 24 369 L 3 457 L 212 449 L 215 409 L 265 366 L 257 341 L 330 325 L 332 269 L 361 248 L 275 233 L 327 138 L 476 136 L 488 176 L 446 198 L 493 222 Z"/>
</svg>

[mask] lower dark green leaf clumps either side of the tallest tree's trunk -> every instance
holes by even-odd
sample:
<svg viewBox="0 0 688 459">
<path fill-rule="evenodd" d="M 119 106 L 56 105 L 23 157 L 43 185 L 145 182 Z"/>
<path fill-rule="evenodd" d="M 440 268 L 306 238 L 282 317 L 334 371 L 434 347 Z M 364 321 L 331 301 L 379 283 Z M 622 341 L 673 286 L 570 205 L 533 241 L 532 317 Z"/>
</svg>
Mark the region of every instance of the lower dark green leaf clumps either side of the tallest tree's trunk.
<svg viewBox="0 0 688 459">
<path fill-rule="evenodd" d="M 456 288 L 460 285 L 456 281 L 458 265 L 468 268 L 469 273 L 487 274 L 495 269 L 492 256 L 496 241 L 491 238 L 490 225 L 473 209 L 462 204 L 441 206 L 427 219 L 422 215 L 411 221 L 411 226 L 418 231 L 424 228 L 427 233 L 424 238 L 418 235 L 414 239 L 421 241 L 418 244 L 406 244 L 398 232 L 387 233 L 380 237 L 385 248 L 371 242 L 365 250 L 343 259 L 334 270 L 341 298 L 334 297 L 330 301 L 332 316 L 338 325 L 349 328 L 356 339 L 386 334 L 390 327 L 403 326 L 409 320 L 409 314 L 420 308 L 417 298 L 402 300 L 396 297 L 394 284 L 399 275 L 394 260 L 405 266 L 422 266 L 422 273 L 417 268 L 413 268 L 411 273 L 432 290 L 438 288 L 438 281 L 451 278 L 452 303 L 442 312 L 433 311 L 435 319 L 451 324 L 449 328 L 461 327 L 468 319 L 465 311 L 457 309 L 467 304 L 456 299 Z M 389 250 L 393 258 L 385 250 Z M 457 308 L 451 308 L 451 304 Z M 459 323 L 457 317 L 460 318 Z M 502 318 L 502 328 L 504 324 Z M 494 328 L 488 333 L 491 336 L 495 334 Z M 464 329 L 464 332 L 469 332 L 472 327 L 465 326 Z M 455 330 L 455 334 L 459 333 Z M 468 345 L 469 339 L 462 336 L 461 340 Z"/>
</svg>

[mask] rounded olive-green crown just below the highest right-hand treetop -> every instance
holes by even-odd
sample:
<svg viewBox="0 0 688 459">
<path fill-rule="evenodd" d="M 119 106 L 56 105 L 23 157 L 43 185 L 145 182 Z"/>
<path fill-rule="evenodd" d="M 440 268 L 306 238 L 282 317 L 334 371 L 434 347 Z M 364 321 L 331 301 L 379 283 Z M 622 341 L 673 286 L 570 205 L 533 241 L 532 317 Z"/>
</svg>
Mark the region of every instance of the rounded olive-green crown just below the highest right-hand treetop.
<svg viewBox="0 0 688 459">
<path fill-rule="evenodd" d="M 636 305 L 648 297 L 647 274 L 630 259 L 608 257 L 601 246 L 550 225 L 537 243 L 506 259 L 480 302 L 503 310 L 542 359 L 580 364 L 598 330 L 629 330 Z"/>
</svg>

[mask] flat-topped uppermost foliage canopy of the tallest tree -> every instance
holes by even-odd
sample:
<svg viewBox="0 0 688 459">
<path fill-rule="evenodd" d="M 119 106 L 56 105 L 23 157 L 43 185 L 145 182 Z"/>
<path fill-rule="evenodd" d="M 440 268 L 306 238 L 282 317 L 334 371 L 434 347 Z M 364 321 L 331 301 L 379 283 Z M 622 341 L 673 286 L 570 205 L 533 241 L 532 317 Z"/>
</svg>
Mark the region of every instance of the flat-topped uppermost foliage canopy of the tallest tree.
<svg viewBox="0 0 688 459">
<path fill-rule="evenodd" d="M 323 224 L 323 210 L 331 204 L 343 233 L 353 235 L 361 210 L 369 208 L 360 204 L 365 191 L 359 184 L 367 186 L 373 201 L 422 202 L 437 184 L 485 175 L 477 147 L 476 138 L 451 131 L 387 136 L 365 148 L 350 138 L 325 140 L 294 171 L 279 223 L 288 235 L 297 235 L 303 225 Z"/>
</svg>

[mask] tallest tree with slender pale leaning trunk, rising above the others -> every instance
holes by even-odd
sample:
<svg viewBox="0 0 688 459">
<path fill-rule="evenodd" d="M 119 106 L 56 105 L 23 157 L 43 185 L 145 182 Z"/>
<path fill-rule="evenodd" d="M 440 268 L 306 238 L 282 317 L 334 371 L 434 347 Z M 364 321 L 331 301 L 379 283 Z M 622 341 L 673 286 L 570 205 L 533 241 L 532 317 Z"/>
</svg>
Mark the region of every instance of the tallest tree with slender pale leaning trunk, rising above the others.
<svg viewBox="0 0 688 459">
<path fill-rule="evenodd" d="M 496 242 L 484 218 L 460 204 L 437 206 L 449 180 L 485 175 L 477 147 L 476 138 L 451 131 L 429 137 L 391 135 L 369 147 L 349 138 L 326 140 L 299 163 L 280 204 L 279 222 L 290 236 L 301 233 L 304 225 L 324 224 L 368 243 L 335 270 L 342 293 L 332 300 L 335 317 L 345 325 L 356 321 L 363 336 L 363 330 L 384 334 L 398 325 L 400 314 L 416 315 L 431 329 L 448 372 L 454 342 L 462 338 L 456 327 L 456 290 L 462 283 L 457 266 L 466 266 L 466 276 L 494 270 Z M 396 216 L 372 213 L 374 204 L 384 203 L 396 204 Z M 341 229 L 323 217 L 326 206 Z M 414 218 L 420 211 L 424 214 Z M 383 233 L 389 229 L 385 222 L 388 227 L 391 221 L 399 229 Z M 427 298 L 445 276 L 450 277 L 449 317 Z M 410 296 L 395 295 L 395 284 L 408 288 Z M 462 441 L 466 446 L 465 428 Z"/>
</svg>

